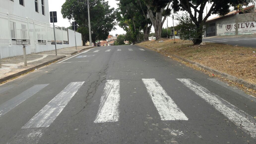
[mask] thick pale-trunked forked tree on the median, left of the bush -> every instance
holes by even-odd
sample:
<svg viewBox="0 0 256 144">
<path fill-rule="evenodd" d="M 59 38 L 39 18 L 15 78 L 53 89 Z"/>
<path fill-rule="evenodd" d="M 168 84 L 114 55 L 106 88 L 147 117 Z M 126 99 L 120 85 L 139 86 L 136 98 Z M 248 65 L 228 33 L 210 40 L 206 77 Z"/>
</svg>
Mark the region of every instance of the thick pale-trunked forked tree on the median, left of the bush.
<svg viewBox="0 0 256 144">
<path fill-rule="evenodd" d="M 144 0 L 144 3 L 147 6 L 147 14 L 155 29 L 156 40 L 158 40 L 161 38 L 164 21 L 170 15 L 170 0 Z"/>
</svg>

